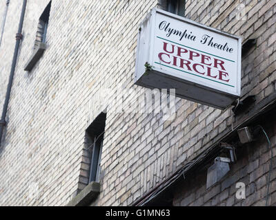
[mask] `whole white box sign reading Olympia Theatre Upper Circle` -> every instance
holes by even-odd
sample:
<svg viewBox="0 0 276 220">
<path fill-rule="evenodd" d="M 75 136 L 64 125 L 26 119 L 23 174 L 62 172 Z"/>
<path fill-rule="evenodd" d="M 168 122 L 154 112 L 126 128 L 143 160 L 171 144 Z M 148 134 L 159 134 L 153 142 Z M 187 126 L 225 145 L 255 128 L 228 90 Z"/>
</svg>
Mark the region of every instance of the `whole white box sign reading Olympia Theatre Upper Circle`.
<svg viewBox="0 0 276 220">
<path fill-rule="evenodd" d="M 241 56 L 241 37 L 155 8 L 139 28 L 135 84 L 224 109 L 240 96 Z"/>
</svg>

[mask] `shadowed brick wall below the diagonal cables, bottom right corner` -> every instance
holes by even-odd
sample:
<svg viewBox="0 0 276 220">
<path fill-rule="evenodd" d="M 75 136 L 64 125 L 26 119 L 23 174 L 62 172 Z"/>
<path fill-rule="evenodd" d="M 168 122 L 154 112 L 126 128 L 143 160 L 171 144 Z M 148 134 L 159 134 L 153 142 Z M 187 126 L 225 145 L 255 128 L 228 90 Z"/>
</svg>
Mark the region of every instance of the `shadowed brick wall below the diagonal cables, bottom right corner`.
<svg viewBox="0 0 276 220">
<path fill-rule="evenodd" d="M 276 204 L 276 120 L 264 123 L 264 130 L 273 148 L 273 170 L 270 174 L 268 206 Z M 264 133 L 257 140 L 237 148 L 237 162 L 230 165 L 229 173 L 217 184 L 206 189 L 207 170 L 203 169 L 178 184 L 173 200 L 174 206 L 265 206 L 270 168 L 270 149 Z M 213 163 L 211 163 L 213 164 Z M 210 164 L 210 165 L 211 165 Z M 236 193 L 242 182 L 246 186 L 246 198 Z M 197 184 L 195 184 L 197 183 Z"/>
</svg>

